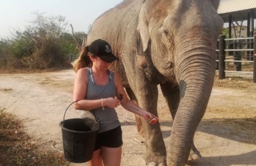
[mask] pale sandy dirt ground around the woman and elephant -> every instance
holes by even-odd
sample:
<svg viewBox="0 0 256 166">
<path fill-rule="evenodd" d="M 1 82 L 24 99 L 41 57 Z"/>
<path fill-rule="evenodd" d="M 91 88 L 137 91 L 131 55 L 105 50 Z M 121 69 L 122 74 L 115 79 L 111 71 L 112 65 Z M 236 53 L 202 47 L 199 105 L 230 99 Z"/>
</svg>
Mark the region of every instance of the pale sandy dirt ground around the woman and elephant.
<svg viewBox="0 0 256 166">
<path fill-rule="evenodd" d="M 72 102 L 75 73 L 1 74 L 0 107 L 24 120 L 25 129 L 44 150 L 62 153 L 59 123 Z M 122 166 L 145 165 L 145 147 L 136 132 L 134 115 L 117 109 L 123 131 Z M 158 113 L 165 145 L 168 146 L 172 119 L 161 91 Z M 65 119 L 80 111 L 70 107 Z M 207 111 L 195 133 L 194 142 L 203 158 L 188 165 L 256 165 L 256 84 L 253 80 L 216 79 Z M 71 164 L 71 165 L 87 165 Z"/>
</svg>

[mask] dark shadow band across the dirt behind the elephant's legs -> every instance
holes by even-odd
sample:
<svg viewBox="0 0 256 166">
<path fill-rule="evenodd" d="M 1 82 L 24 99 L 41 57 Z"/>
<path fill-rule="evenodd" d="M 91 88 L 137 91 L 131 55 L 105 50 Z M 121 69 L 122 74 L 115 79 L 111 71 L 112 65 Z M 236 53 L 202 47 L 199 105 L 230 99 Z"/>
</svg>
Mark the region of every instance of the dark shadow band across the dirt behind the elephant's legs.
<svg viewBox="0 0 256 166">
<path fill-rule="evenodd" d="M 136 122 L 134 120 L 127 120 L 125 122 L 121 122 L 121 124 L 133 125 L 136 127 Z M 172 120 L 161 122 L 161 126 L 172 127 Z M 201 131 L 203 133 L 208 133 L 214 136 L 234 140 L 241 143 L 256 145 L 255 126 L 255 118 L 208 119 L 201 120 L 196 131 Z M 168 138 L 171 134 L 171 130 L 165 130 L 162 131 L 162 133 L 163 138 Z"/>
</svg>

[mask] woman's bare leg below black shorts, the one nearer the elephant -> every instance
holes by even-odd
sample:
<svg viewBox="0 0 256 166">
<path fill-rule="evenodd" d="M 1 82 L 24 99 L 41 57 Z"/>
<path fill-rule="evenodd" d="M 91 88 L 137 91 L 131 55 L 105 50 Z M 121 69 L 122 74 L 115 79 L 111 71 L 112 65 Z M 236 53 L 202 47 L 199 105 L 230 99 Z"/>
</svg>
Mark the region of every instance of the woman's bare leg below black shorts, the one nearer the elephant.
<svg viewBox="0 0 256 166">
<path fill-rule="evenodd" d="M 121 155 L 122 146 L 115 148 L 101 147 L 101 156 L 104 166 L 120 166 Z"/>
</svg>

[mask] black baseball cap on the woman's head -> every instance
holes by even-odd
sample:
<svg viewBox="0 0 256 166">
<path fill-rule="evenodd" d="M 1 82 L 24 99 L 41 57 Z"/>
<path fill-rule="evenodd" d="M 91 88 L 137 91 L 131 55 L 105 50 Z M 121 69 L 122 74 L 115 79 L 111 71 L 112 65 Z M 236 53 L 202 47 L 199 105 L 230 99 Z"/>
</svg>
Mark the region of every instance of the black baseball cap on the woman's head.
<svg viewBox="0 0 256 166">
<path fill-rule="evenodd" d="M 118 57 L 113 55 L 110 44 L 102 39 L 93 41 L 89 45 L 89 52 L 108 63 L 118 59 Z"/>
</svg>

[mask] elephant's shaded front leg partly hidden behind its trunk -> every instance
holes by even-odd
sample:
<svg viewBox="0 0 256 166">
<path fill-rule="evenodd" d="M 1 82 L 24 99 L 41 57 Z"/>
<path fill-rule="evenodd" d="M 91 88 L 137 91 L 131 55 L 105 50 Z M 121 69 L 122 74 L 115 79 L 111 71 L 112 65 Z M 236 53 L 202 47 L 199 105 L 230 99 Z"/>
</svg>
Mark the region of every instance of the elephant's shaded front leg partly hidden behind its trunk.
<svg viewBox="0 0 256 166">
<path fill-rule="evenodd" d="M 180 89 L 179 84 L 175 84 L 172 82 L 166 82 L 165 84 L 160 84 L 163 96 L 166 99 L 167 105 L 172 114 L 172 119 L 174 120 L 176 111 L 179 107 L 180 98 Z M 196 160 L 201 158 L 201 154 L 199 150 L 196 149 L 194 145 L 194 141 L 192 142 L 192 147 L 190 149 L 190 158 L 192 160 Z"/>
</svg>

